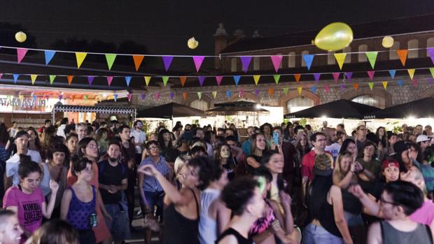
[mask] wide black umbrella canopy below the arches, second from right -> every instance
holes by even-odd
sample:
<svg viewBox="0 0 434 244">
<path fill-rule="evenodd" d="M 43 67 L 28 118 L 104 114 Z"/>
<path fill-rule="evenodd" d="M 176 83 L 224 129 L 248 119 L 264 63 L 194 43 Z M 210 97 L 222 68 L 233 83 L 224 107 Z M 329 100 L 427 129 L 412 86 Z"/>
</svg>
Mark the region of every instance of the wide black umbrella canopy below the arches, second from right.
<svg viewBox="0 0 434 244">
<path fill-rule="evenodd" d="M 334 117 L 344 119 L 363 119 L 367 113 L 372 113 L 379 108 L 367 106 L 362 103 L 339 99 L 329 103 L 323 103 L 295 113 L 284 115 L 286 119 L 295 117 Z"/>
</svg>

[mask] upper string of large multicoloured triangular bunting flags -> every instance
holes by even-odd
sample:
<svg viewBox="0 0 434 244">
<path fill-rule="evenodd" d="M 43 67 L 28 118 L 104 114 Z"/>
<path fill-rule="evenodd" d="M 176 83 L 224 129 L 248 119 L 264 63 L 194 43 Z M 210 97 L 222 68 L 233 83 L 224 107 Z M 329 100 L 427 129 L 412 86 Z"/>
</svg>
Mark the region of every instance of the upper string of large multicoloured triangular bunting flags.
<svg viewBox="0 0 434 244">
<path fill-rule="evenodd" d="M 251 60 L 253 57 L 269 57 L 276 73 L 279 71 L 279 67 L 281 65 L 283 57 L 289 57 L 289 56 L 300 56 L 300 55 L 248 55 L 248 56 L 240 56 L 240 55 L 130 55 L 130 54 L 120 54 L 120 53 L 101 53 L 101 52 L 71 52 L 71 51 L 60 51 L 60 50 L 43 50 L 43 49 L 34 49 L 34 48 L 13 48 L 13 47 L 6 47 L 6 46 L 0 46 L 0 48 L 9 48 L 9 49 L 16 49 L 17 51 L 17 62 L 20 64 L 22 62 L 22 59 L 25 58 L 25 55 L 29 50 L 35 50 L 44 52 L 45 55 L 45 65 L 50 64 L 53 57 L 55 57 L 55 54 L 57 52 L 64 52 L 64 53 L 73 53 L 76 56 L 76 64 L 77 69 L 80 69 L 80 66 L 85 61 L 85 58 L 87 55 L 104 55 L 107 62 L 107 67 L 109 71 L 111 71 L 111 68 L 116 60 L 116 57 L 118 56 L 130 56 L 132 57 L 132 60 L 134 62 L 134 67 L 136 71 L 139 71 L 139 68 L 141 64 L 144 61 L 145 57 L 161 57 L 162 62 L 165 67 L 165 71 L 169 71 L 169 68 L 173 62 L 174 57 L 188 57 L 190 59 L 193 59 L 193 62 L 195 64 L 195 69 L 197 72 L 200 71 L 200 67 L 202 66 L 202 63 L 204 62 L 204 59 L 206 57 L 238 57 L 241 61 L 241 65 L 244 72 L 248 71 L 248 66 L 251 63 Z M 405 62 L 407 60 L 407 55 L 409 51 L 412 50 L 427 50 L 428 56 L 432 60 L 434 64 L 434 48 L 413 48 L 413 49 L 401 49 L 401 50 L 379 50 L 379 51 L 369 51 L 369 52 L 339 52 L 339 53 L 333 53 L 337 64 L 339 66 L 339 69 L 342 70 L 342 66 L 344 65 L 346 55 L 352 55 L 352 54 L 360 54 L 365 53 L 367 60 L 369 61 L 370 65 L 372 66 L 372 69 L 374 69 L 375 62 L 377 61 L 377 56 L 379 52 L 396 52 L 398 55 L 400 62 L 402 66 L 405 66 Z M 319 54 L 313 54 L 313 55 L 301 55 L 302 59 L 304 60 L 306 67 L 308 70 L 311 68 L 312 62 L 314 62 L 315 56 L 321 56 L 321 55 L 329 55 L 328 53 L 319 53 Z"/>
</svg>

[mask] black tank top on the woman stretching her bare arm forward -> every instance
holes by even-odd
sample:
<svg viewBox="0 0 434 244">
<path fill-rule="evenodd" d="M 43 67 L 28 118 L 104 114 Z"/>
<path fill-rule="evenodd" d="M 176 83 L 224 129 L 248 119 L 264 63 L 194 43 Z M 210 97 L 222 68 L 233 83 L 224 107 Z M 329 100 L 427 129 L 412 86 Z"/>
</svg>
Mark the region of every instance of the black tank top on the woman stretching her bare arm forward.
<svg viewBox="0 0 434 244">
<path fill-rule="evenodd" d="M 164 244 L 199 244 L 199 202 L 193 189 L 190 189 L 196 202 L 196 220 L 189 220 L 176 211 L 171 203 L 164 213 L 165 228 L 163 228 Z"/>
</svg>

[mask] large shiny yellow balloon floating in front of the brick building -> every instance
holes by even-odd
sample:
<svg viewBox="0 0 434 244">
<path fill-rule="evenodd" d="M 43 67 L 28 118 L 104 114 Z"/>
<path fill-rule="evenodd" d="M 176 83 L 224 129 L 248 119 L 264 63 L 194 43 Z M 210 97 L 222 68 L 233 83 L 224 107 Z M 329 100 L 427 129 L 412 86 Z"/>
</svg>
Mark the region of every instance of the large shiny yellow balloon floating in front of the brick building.
<svg viewBox="0 0 434 244">
<path fill-rule="evenodd" d="M 313 44 L 326 51 L 345 48 L 353 41 L 353 30 L 348 24 L 335 22 L 328 24 L 316 35 Z"/>
</svg>

